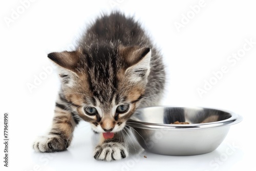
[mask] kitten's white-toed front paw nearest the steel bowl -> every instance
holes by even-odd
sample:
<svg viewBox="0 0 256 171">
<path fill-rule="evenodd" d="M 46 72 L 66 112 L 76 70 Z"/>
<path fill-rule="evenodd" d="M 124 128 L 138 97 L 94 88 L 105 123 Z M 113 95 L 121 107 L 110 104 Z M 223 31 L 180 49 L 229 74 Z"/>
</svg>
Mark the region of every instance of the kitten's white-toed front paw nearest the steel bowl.
<svg viewBox="0 0 256 171">
<path fill-rule="evenodd" d="M 124 143 L 103 142 L 95 147 L 94 158 L 96 160 L 112 161 L 128 157 L 129 153 Z"/>
</svg>

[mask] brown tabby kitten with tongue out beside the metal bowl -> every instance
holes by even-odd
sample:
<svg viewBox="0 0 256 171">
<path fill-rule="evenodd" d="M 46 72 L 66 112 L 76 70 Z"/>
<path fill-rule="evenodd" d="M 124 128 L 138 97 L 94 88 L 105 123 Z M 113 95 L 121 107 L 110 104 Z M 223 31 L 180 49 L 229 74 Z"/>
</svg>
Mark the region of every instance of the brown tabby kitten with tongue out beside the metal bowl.
<svg viewBox="0 0 256 171">
<path fill-rule="evenodd" d="M 140 107 L 156 105 L 163 93 L 162 56 L 132 17 L 119 12 L 102 15 L 82 36 L 76 51 L 53 52 L 61 89 L 52 129 L 37 139 L 37 152 L 65 151 L 79 121 L 91 123 L 101 139 L 97 160 L 129 155 L 125 123 Z"/>
</svg>

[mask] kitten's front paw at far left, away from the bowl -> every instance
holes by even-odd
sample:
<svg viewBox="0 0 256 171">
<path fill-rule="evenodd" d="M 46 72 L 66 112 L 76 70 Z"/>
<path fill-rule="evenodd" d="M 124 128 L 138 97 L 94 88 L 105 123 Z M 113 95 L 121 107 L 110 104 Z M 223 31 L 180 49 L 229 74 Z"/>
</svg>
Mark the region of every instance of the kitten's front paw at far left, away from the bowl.
<svg viewBox="0 0 256 171">
<path fill-rule="evenodd" d="M 61 152 L 66 150 L 67 140 L 58 135 L 47 135 L 39 137 L 33 144 L 36 152 L 50 153 Z"/>
</svg>

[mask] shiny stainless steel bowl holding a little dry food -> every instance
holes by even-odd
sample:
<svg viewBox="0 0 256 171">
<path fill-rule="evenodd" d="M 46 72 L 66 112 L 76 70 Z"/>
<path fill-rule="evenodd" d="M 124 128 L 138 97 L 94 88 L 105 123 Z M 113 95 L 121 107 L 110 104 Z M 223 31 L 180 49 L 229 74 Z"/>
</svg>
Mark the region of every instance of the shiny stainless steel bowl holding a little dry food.
<svg viewBox="0 0 256 171">
<path fill-rule="evenodd" d="M 170 124 L 175 121 L 190 124 Z M 214 151 L 226 137 L 230 125 L 240 121 L 240 115 L 225 110 L 153 106 L 137 111 L 127 125 L 146 151 L 187 156 Z"/>
</svg>

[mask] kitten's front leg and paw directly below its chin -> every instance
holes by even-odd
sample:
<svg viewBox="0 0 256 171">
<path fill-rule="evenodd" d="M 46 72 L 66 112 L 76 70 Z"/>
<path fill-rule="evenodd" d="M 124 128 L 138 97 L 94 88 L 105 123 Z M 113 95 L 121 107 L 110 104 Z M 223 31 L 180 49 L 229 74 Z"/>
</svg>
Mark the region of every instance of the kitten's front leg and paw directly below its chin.
<svg viewBox="0 0 256 171">
<path fill-rule="evenodd" d="M 99 145 L 94 149 L 96 160 L 112 161 L 128 157 L 128 147 L 124 142 L 124 133 L 115 133 L 112 139 L 104 139 L 102 133 Z"/>
</svg>

